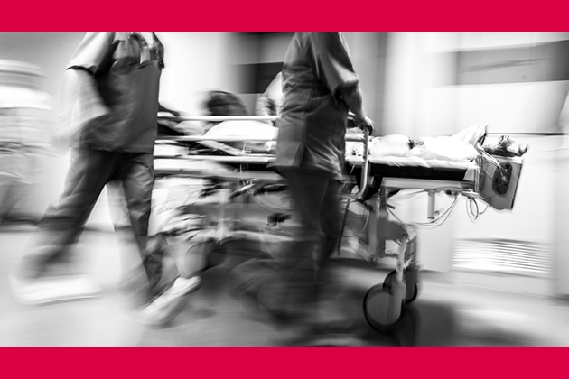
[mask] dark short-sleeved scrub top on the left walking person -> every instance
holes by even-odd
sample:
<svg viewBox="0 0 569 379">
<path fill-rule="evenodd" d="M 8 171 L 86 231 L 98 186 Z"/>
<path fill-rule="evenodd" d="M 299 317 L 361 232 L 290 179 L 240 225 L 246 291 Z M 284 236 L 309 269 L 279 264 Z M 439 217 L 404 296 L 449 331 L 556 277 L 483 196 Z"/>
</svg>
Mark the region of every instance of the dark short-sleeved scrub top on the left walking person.
<svg viewBox="0 0 569 379">
<path fill-rule="evenodd" d="M 111 110 L 90 120 L 79 147 L 122 153 L 152 153 L 156 138 L 163 46 L 142 33 L 87 33 L 68 69 L 86 69 Z"/>
</svg>

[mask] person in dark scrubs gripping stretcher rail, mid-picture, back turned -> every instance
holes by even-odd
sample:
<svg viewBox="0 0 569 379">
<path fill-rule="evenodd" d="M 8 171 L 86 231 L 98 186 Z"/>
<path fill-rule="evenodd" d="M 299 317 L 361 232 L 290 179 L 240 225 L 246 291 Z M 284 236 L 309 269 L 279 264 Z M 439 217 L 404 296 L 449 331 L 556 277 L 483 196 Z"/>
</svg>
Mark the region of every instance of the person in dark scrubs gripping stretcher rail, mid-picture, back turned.
<svg viewBox="0 0 569 379">
<path fill-rule="evenodd" d="M 370 131 L 373 123 L 340 33 L 294 34 L 284 57 L 283 92 L 275 168 L 288 180 L 300 227 L 278 269 L 272 264 L 275 273 L 266 275 L 266 283 L 249 281 L 242 294 L 260 299 L 259 292 L 277 282 L 278 273 L 281 288 L 273 297 L 279 306 L 266 308 L 280 320 L 309 321 L 316 310 L 315 274 L 339 243 L 348 112 Z"/>
</svg>

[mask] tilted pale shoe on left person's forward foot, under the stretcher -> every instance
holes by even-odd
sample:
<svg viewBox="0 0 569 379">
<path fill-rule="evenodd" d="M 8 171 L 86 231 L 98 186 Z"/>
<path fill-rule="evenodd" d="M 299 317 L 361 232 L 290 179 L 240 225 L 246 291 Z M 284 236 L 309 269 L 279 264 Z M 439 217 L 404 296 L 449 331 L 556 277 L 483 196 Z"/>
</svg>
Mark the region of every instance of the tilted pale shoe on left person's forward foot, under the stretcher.
<svg viewBox="0 0 569 379">
<path fill-rule="evenodd" d="M 186 296 L 201 287 L 201 278 L 178 278 L 172 287 L 148 304 L 138 315 L 138 321 L 144 325 L 162 327 L 175 319 L 186 304 Z"/>
</svg>

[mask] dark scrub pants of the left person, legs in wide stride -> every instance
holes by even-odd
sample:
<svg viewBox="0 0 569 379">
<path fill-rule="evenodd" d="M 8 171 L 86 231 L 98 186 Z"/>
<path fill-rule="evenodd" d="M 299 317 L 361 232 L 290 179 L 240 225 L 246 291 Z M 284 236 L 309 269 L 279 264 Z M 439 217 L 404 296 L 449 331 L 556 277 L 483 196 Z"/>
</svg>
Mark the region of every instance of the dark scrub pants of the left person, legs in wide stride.
<svg viewBox="0 0 569 379">
<path fill-rule="evenodd" d="M 151 153 L 115 153 L 74 148 L 70 169 L 59 202 L 52 204 L 40 221 L 32 250 L 23 256 L 17 269 L 22 279 L 35 279 L 79 240 L 83 227 L 102 189 L 122 185 L 126 208 L 137 247 L 151 287 L 160 279 L 160 252 L 148 251 L 147 236 L 154 185 Z M 117 229 L 117 224 L 115 228 Z"/>
</svg>

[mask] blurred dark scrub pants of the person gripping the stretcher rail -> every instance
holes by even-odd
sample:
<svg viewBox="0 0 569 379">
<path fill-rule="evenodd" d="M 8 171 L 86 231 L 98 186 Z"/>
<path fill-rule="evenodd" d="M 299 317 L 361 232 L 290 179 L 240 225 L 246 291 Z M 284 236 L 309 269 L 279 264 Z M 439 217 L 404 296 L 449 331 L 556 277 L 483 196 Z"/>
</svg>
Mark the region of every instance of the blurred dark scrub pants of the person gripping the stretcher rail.
<svg viewBox="0 0 569 379">
<path fill-rule="evenodd" d="M 288 180 L 299 217 L 294 236 L 234 270 L 236 297 L 253 296 L 266 309 L 282 315 L 311 318 L 318 307 L 326 260 L 340 242 L 342 214 L 340 180 L 300 170 L 281 172 Z"/>
</svg>

